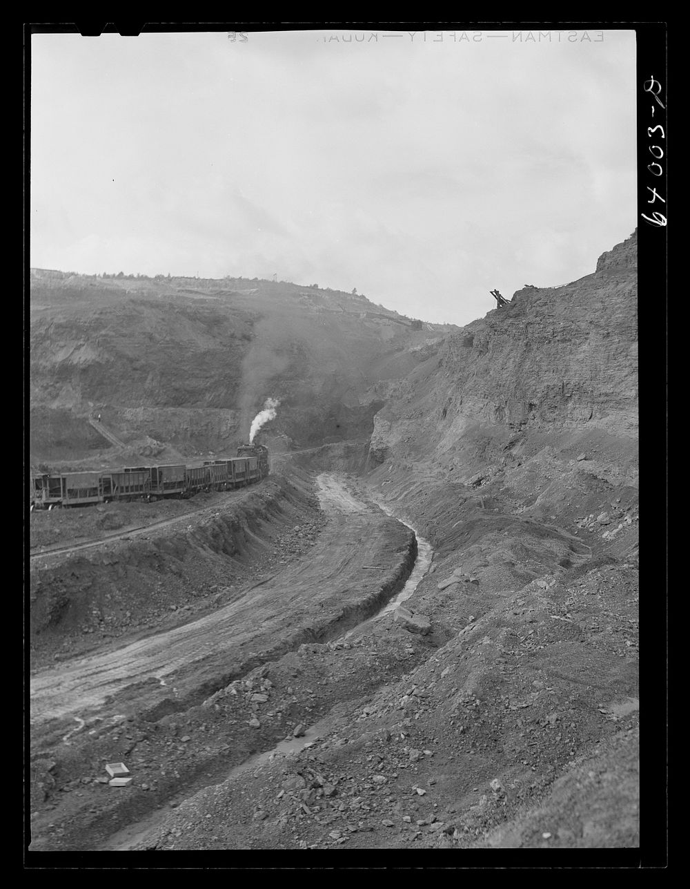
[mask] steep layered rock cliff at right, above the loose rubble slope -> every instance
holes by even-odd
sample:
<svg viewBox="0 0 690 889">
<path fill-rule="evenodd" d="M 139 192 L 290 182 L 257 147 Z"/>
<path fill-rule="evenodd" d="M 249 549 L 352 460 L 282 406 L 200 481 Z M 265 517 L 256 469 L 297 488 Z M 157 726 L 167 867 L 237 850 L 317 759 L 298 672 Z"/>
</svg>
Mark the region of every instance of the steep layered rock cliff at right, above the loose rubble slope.
<svg viewBox="0 0 690 889">
<path fill-rule="evenodd" d="M 507 307 L 448 335 L 377 414 L 372 457 L 424 453 L 462 470 L 464 438 L 477 424 L 485 437 L 510 439 L 513 453 L 540 432 L 636 435 L 637 232 L 604 253 L 592 275 L 526 286 Z"/>
</svg>

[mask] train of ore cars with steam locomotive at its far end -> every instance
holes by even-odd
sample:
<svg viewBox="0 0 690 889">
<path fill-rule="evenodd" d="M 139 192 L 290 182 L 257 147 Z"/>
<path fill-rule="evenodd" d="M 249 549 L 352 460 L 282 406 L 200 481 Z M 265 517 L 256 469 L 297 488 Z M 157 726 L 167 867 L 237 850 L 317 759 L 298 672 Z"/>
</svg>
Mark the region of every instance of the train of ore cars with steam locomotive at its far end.
<svg viewBox="0 0 690 889">
<path fill-rule="evenodd" d="M 202 466 L 169 464 L 38 475 L 31 479 L 31 509 L 191 497 L 200 491 L 251 485 L 268 471 L 266 445 L 241 445 L 236 457 L 204 461 Z"/>
</svg>

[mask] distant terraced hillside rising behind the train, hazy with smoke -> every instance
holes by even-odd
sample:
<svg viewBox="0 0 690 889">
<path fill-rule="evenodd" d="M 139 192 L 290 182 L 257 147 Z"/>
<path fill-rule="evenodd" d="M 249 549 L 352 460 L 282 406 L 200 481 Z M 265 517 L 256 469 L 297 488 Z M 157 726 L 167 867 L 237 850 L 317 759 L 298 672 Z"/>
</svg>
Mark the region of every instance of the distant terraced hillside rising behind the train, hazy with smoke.
<svg viewBox="0 0 690 889">
<path fill-rule="evenodd" d="M 383 404 L 369 389 L 411 370 L 446 330 L 284 282 L 35 269 L 32 455 L 107 448 L 83 428 L 91 411 L 128 444 L 231 447 L 267 396 L 282 400 L 274 431 L 301 445 L 368 436 Z"/>
</svg>

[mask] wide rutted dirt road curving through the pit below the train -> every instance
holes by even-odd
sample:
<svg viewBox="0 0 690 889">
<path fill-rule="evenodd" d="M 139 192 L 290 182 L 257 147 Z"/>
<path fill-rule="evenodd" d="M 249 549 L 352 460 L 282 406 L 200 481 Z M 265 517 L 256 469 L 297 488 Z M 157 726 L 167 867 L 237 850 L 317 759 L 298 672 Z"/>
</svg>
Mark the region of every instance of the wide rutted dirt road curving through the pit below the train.
<svg viewBox="0 0 690 889">
<path fill-rule="evenodd" d="M 214 677 L 341 635 L 385 604 L 407 577 L 414 536 L 336 477 L 324 474 L 317 483 L 329 521 L 305 557 L 200 620 L 40 671 L 31 680 L 35 731 L 53 719 L 81 721 L 95 711 L 150 708 L 208 690 Z M 386 584 L 391 589 L 380 601 Z"/>
</svg>

